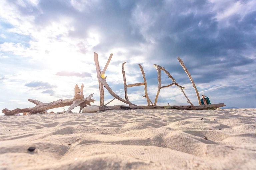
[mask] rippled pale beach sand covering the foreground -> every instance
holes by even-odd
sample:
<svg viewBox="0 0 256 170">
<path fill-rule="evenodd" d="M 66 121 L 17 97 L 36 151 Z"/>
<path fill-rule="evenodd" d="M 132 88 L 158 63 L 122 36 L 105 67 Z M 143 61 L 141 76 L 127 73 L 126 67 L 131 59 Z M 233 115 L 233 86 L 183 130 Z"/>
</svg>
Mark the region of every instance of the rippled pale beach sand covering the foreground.
<svg viewBox="0 0 256 170">
<path fill-rule="evenodd" d="M 255 116 L 256 109 L 0 116 L 0 169 L 255 169 Z"/>
</svg>

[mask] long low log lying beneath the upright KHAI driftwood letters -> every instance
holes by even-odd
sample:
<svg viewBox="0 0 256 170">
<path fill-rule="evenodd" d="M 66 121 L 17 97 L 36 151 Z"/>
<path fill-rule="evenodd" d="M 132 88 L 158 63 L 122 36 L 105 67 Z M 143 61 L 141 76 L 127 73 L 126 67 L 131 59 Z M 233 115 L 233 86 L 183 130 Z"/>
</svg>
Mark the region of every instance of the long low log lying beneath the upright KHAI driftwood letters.
<svg viewBox="0 0 256 170">
<path fill-rule="evenodd" d="M 98 106 L 99 111 L 115 110 L 115 109 L 178 109 L 178 110 L 204 110 L 204 109 L 215 109 L 226 106 L 224 103 L 210 104 L 210 105 L 199 105 L 199 106 Z"/>
</svg>

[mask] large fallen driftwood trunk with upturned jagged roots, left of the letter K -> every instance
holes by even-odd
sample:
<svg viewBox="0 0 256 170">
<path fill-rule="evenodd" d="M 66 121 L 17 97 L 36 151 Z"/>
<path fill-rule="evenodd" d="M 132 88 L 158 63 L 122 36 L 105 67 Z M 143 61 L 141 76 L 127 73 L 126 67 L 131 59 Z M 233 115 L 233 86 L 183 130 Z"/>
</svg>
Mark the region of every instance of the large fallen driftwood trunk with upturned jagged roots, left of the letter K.
<svg viewBox="0 0 256 170">
<path fill-rule="evenodd" d="M 81 90 L 83 89 L 83 84 L 81 86 Z M 29 112 L 30 114 L 37 114 L 40 112 L 43 112 L 48 109 L 54 109 L 54 108 L 59 108 L 59 107 L 64 107 L 64 106 L 70 106 L 67 111 L 71 111 L 74 107 L 78 106 L 79 104 L 83 103 L 84 105 L 90 105 L 90 103 L 94 103 L 95 99 L 91 99 L 93 94 L 89 95 L 85 99 L 83 98 L 83 92 L 81 91 L 78 87 L 78 85 L 75 86 L 75 96 L 73 99 L 60 99 L 57 101 L 53 101 L 51 103 L 43 103 L 38 100 L 32 100 L 28 99 L 28 101 L 36 104 L 35 107 L 33 108 L 25 108 L 25 109 L 14 109 L 14 110 L 8 110 L 8 109 L 3 109 L 2 112 L 5 115 L 15 115 L 18 113 L 27 113 Z M 83 107 L 81 106 L 81 107 Z M 71 109 L 72 108 L 72 109 Z"/>
</svg>

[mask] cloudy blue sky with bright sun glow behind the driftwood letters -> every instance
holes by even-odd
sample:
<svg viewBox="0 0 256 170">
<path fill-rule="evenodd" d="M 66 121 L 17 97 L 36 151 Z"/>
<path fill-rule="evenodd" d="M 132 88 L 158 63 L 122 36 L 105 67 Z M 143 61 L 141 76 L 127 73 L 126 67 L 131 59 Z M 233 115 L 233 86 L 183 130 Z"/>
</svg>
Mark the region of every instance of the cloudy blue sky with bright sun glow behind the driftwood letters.
<svg viewBox="0 0 256 170">
<path fill-rule="evenodd" d="M 113 53 L 106 81 L 123 99 L 122 63 L 127 84 L 143 82 L 142 65 L 153 103 L 158 64 L 198 105 L 180 57 L 200 96 L 226 107 L 256 108 L 255 47 L 255 0 L 1 0 L 0 110 L 34 107 L 28 99 L 72 99 L 75 84 L 84 84 L 84 95 L 94 93 L 93 105 L 99 105 L 94 52 L 101 70 Z M 171 83 L 162 71 L 162 86 Z M 127 91 L 132 103 L 147 105 L 144 86 Z M 104 92 L 105 103 L 114 98 Z M 157 105 L 186 101 L 171 86 L 161 89 Z M 125 105 L 109 105 L 116 104 Z"/>
</svg>

